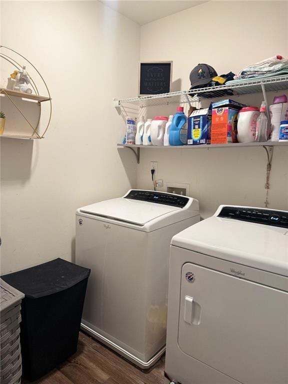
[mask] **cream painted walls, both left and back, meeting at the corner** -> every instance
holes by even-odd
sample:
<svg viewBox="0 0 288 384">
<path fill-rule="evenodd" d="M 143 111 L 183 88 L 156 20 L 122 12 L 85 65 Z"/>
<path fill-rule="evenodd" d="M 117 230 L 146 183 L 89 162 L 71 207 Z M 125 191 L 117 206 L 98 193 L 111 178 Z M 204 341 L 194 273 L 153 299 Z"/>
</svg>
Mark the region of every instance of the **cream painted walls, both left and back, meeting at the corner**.
<svg viewBox="0 0 288 384">
<path fill-rule="evenodd" d="M 1 139 L 1 273 L 56 256 L 73 260 L 75 209 L 136 184 L 151 188 L 150 160 L 158 161 L 157 178 L 190 184 L 203 217 L 220 203 L 263 206 L 262 148 L 142 149 L 136 167 L 131 151 L 115 147 L 124 124 L 111 100 L 137 93 L 139 49 L 141 60 L 172 59 L 181 89 L 199 61 L 222 73 L 288 56 L 287 2 L 212 1 L 141 28 L 97 1 L 1 7 L 1 44 L 42 72 L 53 104 L 43 140 Z M 238 99 L 259 104 L 261 96 Z M 288 209 L 287 169 L 288 148 L 275 148 L 270 207 Z"/>
</svg>

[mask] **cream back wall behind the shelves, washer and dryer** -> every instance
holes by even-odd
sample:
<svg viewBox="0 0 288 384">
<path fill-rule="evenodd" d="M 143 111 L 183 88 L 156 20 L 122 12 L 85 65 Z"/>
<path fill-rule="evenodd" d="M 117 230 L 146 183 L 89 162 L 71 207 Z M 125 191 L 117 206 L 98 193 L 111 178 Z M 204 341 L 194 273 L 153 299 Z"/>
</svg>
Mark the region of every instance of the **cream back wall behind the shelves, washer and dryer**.
<svg viewBox="0 0 288 384">
<path fill-rule="evenodd" d="M 287 1 L 207 2 L 143 25 L 140 59 L 173 60 L 173 81 L 188 89 L 189 72 L 200 62 L 221 74 L 236 73 L 274 54 L 287 57 L 287 15 Z M 269 93 L 270 102 L 272 97 Z M 261 101 L 260 95 L 234 98 L 251 105 Z M 174 108 L 163 111 L 173 112 Z M 162 114 L 160 107 L 157 113 Z M 147 114 L 153 117 L 156 111 Z M 158 161 L 157 178 L 190 184 L 190 195 L 199 199 L 203 217 L 220 203 L 264 206 L 263 148 L 141 149 L 139 188 L 151 187 L 150 160 Z M 287 169 L 288 147 L 274 148 L 268 195 L 271 208 L 288 209 Z"/>
</svg>

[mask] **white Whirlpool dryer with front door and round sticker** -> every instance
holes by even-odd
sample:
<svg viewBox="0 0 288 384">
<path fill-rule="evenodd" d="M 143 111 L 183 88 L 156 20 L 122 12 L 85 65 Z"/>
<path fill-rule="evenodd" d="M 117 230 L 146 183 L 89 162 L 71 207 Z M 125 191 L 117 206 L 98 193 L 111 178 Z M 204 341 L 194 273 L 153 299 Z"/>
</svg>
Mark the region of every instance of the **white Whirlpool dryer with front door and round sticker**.
<svg viewBox="0 0 288 384">
<path fill-rule="evenodd" d="M 288 212 L 220 205 L 171 241 L 165 375 L 288 383 Z"/>
</svg>

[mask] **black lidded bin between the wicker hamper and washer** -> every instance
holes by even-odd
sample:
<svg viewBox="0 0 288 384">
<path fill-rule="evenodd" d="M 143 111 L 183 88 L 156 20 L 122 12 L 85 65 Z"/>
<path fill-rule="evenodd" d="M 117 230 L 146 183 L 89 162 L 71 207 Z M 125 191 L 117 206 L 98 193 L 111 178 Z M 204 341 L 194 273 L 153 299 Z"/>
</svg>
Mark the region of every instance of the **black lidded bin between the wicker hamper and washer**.
<svg viewBox="0 0 288 384">
<path fill-rule="evenodd" d="M 25 294 L 23 376 L 35 380 L 76 352 L 90 269 L 56 258 L 2 279 Z"/>
</svg>

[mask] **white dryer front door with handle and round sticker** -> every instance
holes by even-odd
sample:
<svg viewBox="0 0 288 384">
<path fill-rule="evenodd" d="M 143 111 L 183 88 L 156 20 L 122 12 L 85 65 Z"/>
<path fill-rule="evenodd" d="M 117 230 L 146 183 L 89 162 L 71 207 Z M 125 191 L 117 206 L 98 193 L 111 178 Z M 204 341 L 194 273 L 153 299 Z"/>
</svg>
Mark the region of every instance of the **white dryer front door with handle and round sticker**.
<svg viewBox="0 0 288 384">
<path fill-rule="evenodd" d="M 288 293 L 182 266 L 180 349 L 245 384 L 288 383 Z"/>
</svg>

